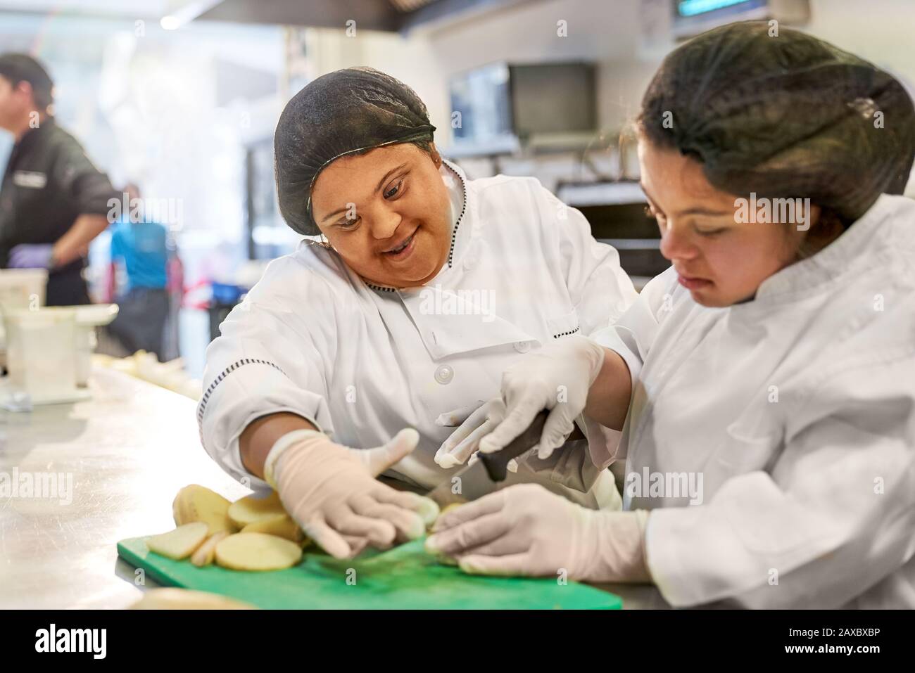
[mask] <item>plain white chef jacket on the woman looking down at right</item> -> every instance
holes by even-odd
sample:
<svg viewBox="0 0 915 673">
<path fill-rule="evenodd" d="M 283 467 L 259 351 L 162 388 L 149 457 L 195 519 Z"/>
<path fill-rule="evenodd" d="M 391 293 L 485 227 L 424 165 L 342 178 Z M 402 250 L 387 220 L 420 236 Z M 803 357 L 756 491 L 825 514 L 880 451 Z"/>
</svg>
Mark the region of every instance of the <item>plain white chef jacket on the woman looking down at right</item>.
<svg viewBox="0 0 915 673">
<path fill-rule="evenodd" d="M 752 301 L 706 308 L 671 269 L 595 335 L 635 379 L 624 508 L 653 509 L 671 604 L 915 607 L 913 231 L 884 195 Z"/>
</svg>

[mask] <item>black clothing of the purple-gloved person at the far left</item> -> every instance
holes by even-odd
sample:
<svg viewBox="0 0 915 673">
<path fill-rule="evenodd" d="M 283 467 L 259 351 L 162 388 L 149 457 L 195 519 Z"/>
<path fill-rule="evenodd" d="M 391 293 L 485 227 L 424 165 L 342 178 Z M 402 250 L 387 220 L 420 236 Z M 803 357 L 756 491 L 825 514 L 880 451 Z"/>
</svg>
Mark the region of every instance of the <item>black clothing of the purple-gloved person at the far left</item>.
<svg viewBox="0 0 915 673">
<path fill-rule="evenodd" d="M 119 198 L 81 144 L 44 119 L 13 147 L 0 186 L 0 267 L 20 243 L 54 243 L 83 214 L 106 215 Z M 80 258 L 48 274 L 49 306 L 89 304 Z"/>
</svg>

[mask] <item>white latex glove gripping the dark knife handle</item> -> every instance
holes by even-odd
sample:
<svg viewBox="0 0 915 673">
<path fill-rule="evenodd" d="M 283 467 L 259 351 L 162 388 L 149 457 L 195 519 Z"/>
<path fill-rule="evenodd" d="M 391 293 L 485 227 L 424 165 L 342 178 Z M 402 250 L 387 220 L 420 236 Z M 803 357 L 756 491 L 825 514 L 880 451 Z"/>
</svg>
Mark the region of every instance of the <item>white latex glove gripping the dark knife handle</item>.
<svg viewBox="0 0 915 673">
<path fill-rule="evenodd" d="M 502 374 L 506 413 L 499 426 L 479 440 L 491 454 L 524 432 L 539 411 L 550 410 L 537 456 L 550 457 L 575 430 L 587 393 L 604 363 L 604 348 L 587 337 L 567 337 L 531 353 Z"/>
</svg>

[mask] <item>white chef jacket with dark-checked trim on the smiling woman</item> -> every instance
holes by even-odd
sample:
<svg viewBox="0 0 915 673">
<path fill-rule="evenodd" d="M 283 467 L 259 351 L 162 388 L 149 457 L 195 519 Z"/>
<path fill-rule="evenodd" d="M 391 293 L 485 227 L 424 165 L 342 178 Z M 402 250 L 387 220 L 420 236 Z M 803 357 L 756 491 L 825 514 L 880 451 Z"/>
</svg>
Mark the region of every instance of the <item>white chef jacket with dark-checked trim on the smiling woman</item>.
<svg viewBox="0 0 915 673">
<path fill-rule="evenodd" d="M 424 287 L 370 285 L 336 252 L 303 240 L 222 323 L 207 350 L 198 421 L 205 449 L 230 475 L 265 486 L 243 467 L 238 438 L 254 419 L 290 411 L 354 448 L 416 428 L 417 449 L 386 475 L 436 486 L 459 469 L 434 461 L 454 431 L 435 424 L 439 414 L 497 396 L 504 369 L 608 326 L 635 300 L 617 251 L 537 180 L 468 180 L 447 162 L 440 173 L 452 246 Z M 619 508 L 604 469 L 619 433 L 581 426 L 587 442 L 522 461 L 505 484 L 535 481 L 588 507 Z"/>
</svg>

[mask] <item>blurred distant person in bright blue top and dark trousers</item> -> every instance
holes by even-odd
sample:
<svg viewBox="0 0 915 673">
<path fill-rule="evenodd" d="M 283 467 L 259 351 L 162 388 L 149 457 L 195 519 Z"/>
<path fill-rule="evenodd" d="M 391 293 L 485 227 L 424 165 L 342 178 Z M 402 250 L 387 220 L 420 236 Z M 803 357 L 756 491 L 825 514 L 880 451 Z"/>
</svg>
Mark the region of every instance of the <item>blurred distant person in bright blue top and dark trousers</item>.
<svg viewBox="0 0 915 673">
<path fill-rule="evenodd" d="M 130 208 L 124 208 L 112 225 L 108 283 L 109 299 L 121 310 L 108 331 L 129 353 L 145 350 L 162 361 L 168 317 L 167 230 L 143 212 L 139 187 L 125 186 L 124 198 Z M 125 283 L 115 290 L 114 280 L 122 275 L 116 272 L 118 266 L 124 271 Z"/>
</svg>

